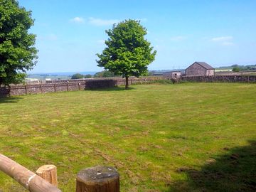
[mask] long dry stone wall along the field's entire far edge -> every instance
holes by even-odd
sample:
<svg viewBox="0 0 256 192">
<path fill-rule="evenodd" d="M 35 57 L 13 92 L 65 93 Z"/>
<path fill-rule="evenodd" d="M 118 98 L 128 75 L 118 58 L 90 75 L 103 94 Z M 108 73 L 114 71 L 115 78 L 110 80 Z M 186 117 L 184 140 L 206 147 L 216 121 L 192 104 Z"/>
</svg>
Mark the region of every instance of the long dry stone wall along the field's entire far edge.
<svg viewBox="0 0 256 192">
<path fill-rule="evenodd" d="M 129 85 L 143 83 L 151 80 L 163 80 L 170 78 L 147 77 L 129 78 Z M 181 76 L 181 80 L 188 82 L 252 82 L 256 83 L 256 75 L 218 75 L 218 76 Z M 44 84 L 11 85 L 0 87 L 0 97 L 38 94 L 46 92 L 62 92 L 97 89 L 124 85 L 123 78 L 101 78 L 97 80 L 61 80 Z"/>
</svg>

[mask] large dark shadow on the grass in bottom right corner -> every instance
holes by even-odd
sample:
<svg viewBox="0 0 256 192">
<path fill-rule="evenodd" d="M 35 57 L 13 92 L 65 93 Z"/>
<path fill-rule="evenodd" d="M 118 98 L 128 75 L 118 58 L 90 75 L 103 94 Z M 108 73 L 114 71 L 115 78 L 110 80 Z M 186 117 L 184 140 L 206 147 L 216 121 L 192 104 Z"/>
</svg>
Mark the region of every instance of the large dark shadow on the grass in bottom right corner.
<svg viewBox="0 0 256 192">
<path fill-rule="evenodd" d="M 201 171 L 179 169 L 188 180 L 171 184 L 169 191 L 256 191 L 256 141 L 223 150 L 227 153 L 209 161 Z"/>
</svg>

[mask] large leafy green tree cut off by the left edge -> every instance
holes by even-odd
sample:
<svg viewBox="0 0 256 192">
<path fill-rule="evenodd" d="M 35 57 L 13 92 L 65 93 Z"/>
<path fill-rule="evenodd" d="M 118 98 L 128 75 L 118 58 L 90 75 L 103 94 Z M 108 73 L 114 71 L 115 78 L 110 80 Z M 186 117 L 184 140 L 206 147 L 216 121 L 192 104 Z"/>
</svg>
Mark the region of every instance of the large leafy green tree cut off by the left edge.
<svg viewBox="0 0 256 192">
<path fill-rule="evenodd" d="M 28 33 L 33 23 L 18 1 L 0 0 L 0 85 L 22 82 L 36 65 L 36 35 Z"/>
</svg>

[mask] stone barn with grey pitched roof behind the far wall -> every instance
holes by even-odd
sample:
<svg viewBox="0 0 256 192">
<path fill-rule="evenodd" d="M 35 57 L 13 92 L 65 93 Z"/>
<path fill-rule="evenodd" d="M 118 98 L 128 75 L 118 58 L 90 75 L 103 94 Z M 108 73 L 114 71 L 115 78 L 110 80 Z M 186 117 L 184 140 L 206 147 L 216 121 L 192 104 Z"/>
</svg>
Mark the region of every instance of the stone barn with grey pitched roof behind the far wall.
<svg viewBox="0 0 256 192">
<path fill-rule="evenodd" d="M 185 70 L 186 76 L 211 76 L 214 68 L 205 62 L 195 62 Z"/>
</svg>

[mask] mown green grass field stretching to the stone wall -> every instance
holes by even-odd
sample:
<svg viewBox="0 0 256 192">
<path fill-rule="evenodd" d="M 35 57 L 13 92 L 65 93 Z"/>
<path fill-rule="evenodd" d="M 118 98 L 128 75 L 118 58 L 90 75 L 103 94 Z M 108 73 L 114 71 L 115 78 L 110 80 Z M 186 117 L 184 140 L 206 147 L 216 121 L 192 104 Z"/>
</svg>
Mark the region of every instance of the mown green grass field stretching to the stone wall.
<svg viewBox="0 0 256 192">
<path fill-rule="evenodd" d="M 133 85 L 0 99 L 0 153 L 31 171 L 58 167 L 59 188 L 96 165 L 121 191 L 255 191 L 256 85 Z M 23 191 L 0 173 L 0 191 Z"/>
</svg>

